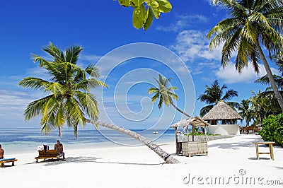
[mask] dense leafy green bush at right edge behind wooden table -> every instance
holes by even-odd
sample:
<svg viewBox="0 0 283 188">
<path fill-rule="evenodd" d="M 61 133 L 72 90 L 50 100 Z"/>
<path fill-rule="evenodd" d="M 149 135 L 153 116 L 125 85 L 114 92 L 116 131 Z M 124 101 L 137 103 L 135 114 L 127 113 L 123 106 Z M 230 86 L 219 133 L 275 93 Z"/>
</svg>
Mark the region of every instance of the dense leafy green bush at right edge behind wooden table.
<svg viewBox="0 0 283 188">
<path fill-rule="evenodd" d="M 283 113 L 264 119 L 259 134 L 264 141 L 275 141 L 275 145 L 283 146 Z"/>
</svg>

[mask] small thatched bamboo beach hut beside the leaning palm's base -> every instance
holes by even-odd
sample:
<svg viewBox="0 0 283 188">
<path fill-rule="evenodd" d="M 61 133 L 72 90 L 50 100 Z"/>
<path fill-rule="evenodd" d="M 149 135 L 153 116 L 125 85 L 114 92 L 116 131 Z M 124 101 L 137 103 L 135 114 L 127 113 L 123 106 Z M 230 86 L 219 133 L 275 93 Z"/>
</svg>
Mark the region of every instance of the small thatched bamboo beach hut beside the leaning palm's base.
<svg viewBox="0 0 283 188">
<path fill-rule="evenodd" d="M 192 141 L 190 141 L 188 125 L 192 125 Z M 173 124 L 171 127 L 175 129 L 175 142 L 177 155 L 207 155 L 207 126 L 209 124 L 200 117 L 190 117 L 182 119 L 180 122 Z M 185 134 L 179 134 L 177 128 L 185 127 Z M 204 127 L 203 140 L 195 141 L 195 127 Z"/>
</svg>

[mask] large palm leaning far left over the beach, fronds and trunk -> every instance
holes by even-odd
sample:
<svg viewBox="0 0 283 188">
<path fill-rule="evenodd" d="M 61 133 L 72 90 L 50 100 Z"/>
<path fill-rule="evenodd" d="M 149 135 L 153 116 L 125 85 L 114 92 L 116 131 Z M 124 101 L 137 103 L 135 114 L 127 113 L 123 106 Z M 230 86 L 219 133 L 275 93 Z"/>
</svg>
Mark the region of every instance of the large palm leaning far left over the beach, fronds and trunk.
<svg viewBox="0 0 283 188">
<path fill-rule="evenodd" d="M 48 93 L 45 98 L 30 102 L 25 108 L 26 120 L 40 116 L 42 131 L 47 134 L 56 128 L 59 130 L 59 136 L 64 124 L 74 129 L 74 136 L 77 136 L 79 125 L 84 126 L 86 123 L 95 124 L 96 127 L 100 125 L 141 141 L 167 163 L 178 163 L 178 160 L 144 136 L 114 124 L 98 122 L 98 101 L 89 92 L 98 86 L 107 87 L 107 85 L 96 79 L 99 77 L 96 66 L 90 64 L 86 69 L 81 69 L 76 64 L 79 53 L 83 50 L 82 47 L 69 47 L 62 52 L 50 42 L 50 45 L 43 50 L 51 55 L 53 61 L 47 61 L 37 55 L 33 55 L 33 59 L 35 62 L 40 62 L 40 67 L 51 76 L 50 80 L 28 77 L 19 82 L 19 85 L 25 88 L 39 89 Z M 89 78 L 86 78 L 87 76 Z"/>
</svg>

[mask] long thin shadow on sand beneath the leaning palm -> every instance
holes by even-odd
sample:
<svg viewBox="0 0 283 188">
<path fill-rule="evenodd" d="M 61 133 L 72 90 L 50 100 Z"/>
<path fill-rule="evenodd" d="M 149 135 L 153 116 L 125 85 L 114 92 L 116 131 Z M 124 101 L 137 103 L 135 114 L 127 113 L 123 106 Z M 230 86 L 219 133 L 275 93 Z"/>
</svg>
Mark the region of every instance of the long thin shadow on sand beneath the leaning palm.
<svg viewBox="0 0 283 188">
<path fill-rule="evenodd" d="M 53 165 L 62 165 L 63 163 L 106 163 L 106 164 L 120 164 L 120 165 L 162 165 L 164 163 L 120 163 L 120 162 L 109 162 L 109 161 L 100 161 L 101 158 L 96 157 L 69 157 L 67 160 L 52 160 L 53 163 L 47 163 L 48 161 L 42 161 L 40 163 L 46 163 L 45 166 Z M 50 161 L 50 160 L 49 160 Z"/>
</svg>

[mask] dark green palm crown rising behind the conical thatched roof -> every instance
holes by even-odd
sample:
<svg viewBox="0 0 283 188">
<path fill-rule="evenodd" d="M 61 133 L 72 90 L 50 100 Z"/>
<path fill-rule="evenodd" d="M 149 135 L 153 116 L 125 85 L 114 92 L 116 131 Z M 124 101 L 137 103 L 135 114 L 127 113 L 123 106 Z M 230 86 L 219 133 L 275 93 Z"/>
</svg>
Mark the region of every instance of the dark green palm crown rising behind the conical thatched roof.
<svg viewBox="0 0 283 188">
<path fill-rule="evenodd" d="M 214 81 L 212 83 L 212 86 L 205 86 L 204 94 L 199 95 L 199 98 L 197 100 L 200 100 L 202 102 L 207 102 L 207 106 L 202 107 L 200 110 L 200 116 L 203 117 L 209 110 L 212 110 L 212 107 L 214 107 L 218 102 L 221 100 L 225 101 L 227 105 L 231 107 L 238 107 L 238 102 L 228 102 L 227 100 L 230 100 L 233 97 L 238 96 L 238 92 L 236 90 L 226 90 L 224 93 L 224 90 L 227 89 L 227 86 L 224 84 L 223 86 L 219 86 L 218 80 Z"/>
</svg>

